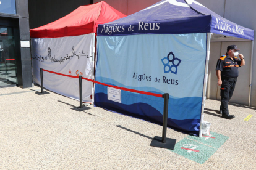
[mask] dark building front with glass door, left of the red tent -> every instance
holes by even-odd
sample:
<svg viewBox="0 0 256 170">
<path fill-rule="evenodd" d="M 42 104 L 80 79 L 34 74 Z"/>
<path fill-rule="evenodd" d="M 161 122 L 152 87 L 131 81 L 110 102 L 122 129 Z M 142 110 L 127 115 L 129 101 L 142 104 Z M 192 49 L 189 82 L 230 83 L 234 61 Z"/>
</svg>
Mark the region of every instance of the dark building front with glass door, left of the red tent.
<svg viewBox="0 0 256 170">
<path fill-rule="evenodd" d="M 32 87 L 27 0 L 0 1 L 0 87 Z"/>
</svg>

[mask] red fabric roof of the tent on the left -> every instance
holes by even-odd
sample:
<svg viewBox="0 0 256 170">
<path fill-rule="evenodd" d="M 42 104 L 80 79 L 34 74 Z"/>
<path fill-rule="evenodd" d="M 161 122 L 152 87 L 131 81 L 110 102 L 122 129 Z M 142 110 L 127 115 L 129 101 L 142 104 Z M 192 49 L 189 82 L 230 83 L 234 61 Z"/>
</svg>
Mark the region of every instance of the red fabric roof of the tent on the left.
<svg viewBox="0 0 256 170">
<path fill-rule="evenodd" d="M 31 29 L 32 38 L 55 38 L 96 33 L 99 23 L 112 22 L 126 17 L 104 1 L 88 6 L 80 6 L 65 17 L 39 28 Z"/>
</svg>

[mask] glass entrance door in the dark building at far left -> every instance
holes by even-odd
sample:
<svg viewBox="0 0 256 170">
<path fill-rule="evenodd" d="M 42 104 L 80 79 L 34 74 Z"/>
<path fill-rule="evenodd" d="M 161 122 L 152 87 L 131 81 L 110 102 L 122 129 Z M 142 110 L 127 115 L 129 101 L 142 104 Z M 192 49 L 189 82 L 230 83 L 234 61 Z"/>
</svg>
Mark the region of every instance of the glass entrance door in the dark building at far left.
<svg viewBox="0 0 256 170">
<path fill-rule="evenodd" d="M 0 87 L 17 84 L 13 28 L 0 26 Z"/>
</svg>

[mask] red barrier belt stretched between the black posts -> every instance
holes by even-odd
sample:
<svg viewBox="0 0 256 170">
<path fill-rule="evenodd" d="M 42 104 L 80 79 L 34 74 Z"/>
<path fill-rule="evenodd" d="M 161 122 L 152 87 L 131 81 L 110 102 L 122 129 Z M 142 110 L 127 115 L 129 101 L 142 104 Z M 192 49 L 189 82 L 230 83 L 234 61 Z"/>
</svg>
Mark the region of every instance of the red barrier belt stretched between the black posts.
<svg viewBox="0 0 256 170">
<path fill-rule="evenodd" d="M 67 77 L 70 77 L 70 78 L 79 78 L 78 76 L 65 75 L 65 74 L 56 73 L 56 72 L 45 70 L 45 69 L 43 69 L 43 71 L 46 71 L 46 72 L 49 72 L 49 73 L 53 73 L 53 74 L 56 74 L 56 75 L 67 76 Z M 124 87 L 117 87 L 117 86 L 101 83 L 99 81 L 95 81 L 93 79 L 88 79 L 88 78 L 83 78 L 83 77 L 82 77 L 82 79 L 85 79 L 87 81 L 91 81 L 93 83 L 101 84 L 103 86 L 113 87 L 115 89 L 121 89 L 123 91 L 136 92 L 136 93 L 139 93 L 139 94 L 152 95 L 152 96 L 155 96 L 155 97 L 163 98 L 163 94 L 156 94 L 156 93 L 153 93 L 153 92 L 144 92 L 144 91 L 137 91 L 137 90 L 134 90 L 134 89 L 127 89 L 127 88 L 124 88 Z"/>
</svg>

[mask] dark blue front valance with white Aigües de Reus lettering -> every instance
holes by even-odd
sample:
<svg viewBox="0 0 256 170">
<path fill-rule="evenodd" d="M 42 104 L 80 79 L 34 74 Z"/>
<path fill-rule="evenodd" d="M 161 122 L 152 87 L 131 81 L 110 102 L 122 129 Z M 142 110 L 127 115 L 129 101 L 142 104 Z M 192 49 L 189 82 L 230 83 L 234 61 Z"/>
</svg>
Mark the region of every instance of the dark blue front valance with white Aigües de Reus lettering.
<svg viewBox="0 0 256 170">
<path fill-rule="evenodd" d="M 153 22 L 114 23 L 98 25 L 98 36 L 128 34 L 188 34 L 209 33 L 211 16 L 172 18 Z"/>
</svg>

